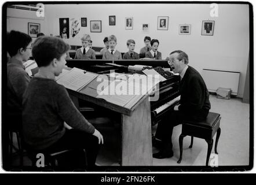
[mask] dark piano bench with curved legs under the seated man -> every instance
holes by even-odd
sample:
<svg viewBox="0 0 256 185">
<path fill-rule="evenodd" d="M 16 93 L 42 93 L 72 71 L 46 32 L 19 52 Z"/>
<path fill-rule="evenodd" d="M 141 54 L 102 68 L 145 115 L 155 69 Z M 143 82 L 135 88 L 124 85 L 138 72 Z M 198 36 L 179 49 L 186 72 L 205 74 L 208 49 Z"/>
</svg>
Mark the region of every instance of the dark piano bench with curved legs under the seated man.
<svg viewBox="0 0 256 185">
<path fill-rule="evenodd" d="M 183 145 L 183 138 L 187 135 L 191 136 L 191 145 L 189 148 L 193 146 L 193 137 L 205 139 L 208 144 L 207 150 L 207 157 L 206 157 L 206 166 L 208 166 L 209 158 L 211 154 L 211 149 L 213 148 L 213 136 L 217 132 L 216 140 L 215 140 L 215 153 L 217 152 L 218 140 L 221 135 L 221 128 L 220 128 L 220 114 L 209 112 L 206 120 L 203 121 L 184 121 L 182 123 L 182 131 L 179 138 L 180 143 L 180 158 L 177 161 L 178 163 L 182 160 L 182 145 Z"/>
</svg>

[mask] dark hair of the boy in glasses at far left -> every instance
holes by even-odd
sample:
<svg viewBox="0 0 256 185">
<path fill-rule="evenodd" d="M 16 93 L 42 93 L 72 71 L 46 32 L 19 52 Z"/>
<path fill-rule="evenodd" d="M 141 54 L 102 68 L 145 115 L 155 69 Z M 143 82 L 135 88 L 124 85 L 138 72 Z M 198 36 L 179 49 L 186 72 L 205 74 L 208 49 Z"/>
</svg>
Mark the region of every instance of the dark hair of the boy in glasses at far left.
<svg viewBox="0 0 256 185">
<path fill-rule="evenodd" d="M 13 57 L 18 53 L 19 49 L 23 48 L 26 50 L 26 47 L 30 44 L 32 38 L 23 32 L 12 30 L 7 35 L 7 40 L 7 51 L 10 57 Z"/>
</svg>

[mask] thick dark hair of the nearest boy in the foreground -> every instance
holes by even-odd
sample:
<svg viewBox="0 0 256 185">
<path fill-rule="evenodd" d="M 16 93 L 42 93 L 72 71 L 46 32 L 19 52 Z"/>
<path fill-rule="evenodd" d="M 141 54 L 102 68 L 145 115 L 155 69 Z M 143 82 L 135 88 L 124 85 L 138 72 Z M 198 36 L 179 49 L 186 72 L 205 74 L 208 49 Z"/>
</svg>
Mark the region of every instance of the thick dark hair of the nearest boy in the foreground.
<svg viewBox="0 0 256 185">
<path fill-rule="evenodd" d="M 54 58 L 59 60 L 68 50 L 70 50 L 70 45 L 63 39 L 55 36 L 40 36 L 33 44 L 32 56 L 36 64 L 41 67 L 49 65 Z"/>
</svg>

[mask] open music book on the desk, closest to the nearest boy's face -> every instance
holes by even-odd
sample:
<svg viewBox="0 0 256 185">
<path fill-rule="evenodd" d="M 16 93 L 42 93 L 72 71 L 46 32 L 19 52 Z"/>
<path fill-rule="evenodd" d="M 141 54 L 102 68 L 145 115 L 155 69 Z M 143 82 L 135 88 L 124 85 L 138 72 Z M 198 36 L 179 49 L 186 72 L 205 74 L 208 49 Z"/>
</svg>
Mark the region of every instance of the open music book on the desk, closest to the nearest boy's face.
<svg viewBox="0 0 256 185">
<path fill-rule="evenodd" d="M 74 91 L 79 91 L 98 76 L 96 73 L 86 72 L 82 69 L 72 68 L 56 82 Z"/>
</svg>

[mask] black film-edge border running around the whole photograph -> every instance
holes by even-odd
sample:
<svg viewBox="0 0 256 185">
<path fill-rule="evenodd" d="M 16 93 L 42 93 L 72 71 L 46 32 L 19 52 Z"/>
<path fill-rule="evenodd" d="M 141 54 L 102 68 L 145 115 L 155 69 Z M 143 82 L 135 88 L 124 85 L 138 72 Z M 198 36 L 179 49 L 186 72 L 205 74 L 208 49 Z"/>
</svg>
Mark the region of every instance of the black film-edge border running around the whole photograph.
<svg viewBox="0 0 256 185">
<path fill-rule="evenodd" d="M 2 30 L 6 30 L 6 10 L 7 5 L 13 5 L 13 4 L 31 4 L 33 2 L 5 2 L 2 6 Z M 196 3 L 196 4 L 210 4 L 210 3 L 218 3 L 218 4 L 242 4 L 242 5 L 248 5 L 249 8 L 249 29 L 250 29 L 250 43 L 249 43 L 249 62 L 250 62 L 250 149 L 249 149 L 249 164 L 248 165 L 239 165 L 239 166 L 218 166 L 218 167 L 211 167 L 211 166 L 96 166 L 94 168 L 88 168 L 83 171 L 93 171 L 93 172 L 244 172 L 244 171 L 250 171 L 253 169 L 253 160 L 254 160 L 254 27 L 253 27 L 253 5 L 250 2 L 242 2 L 242 1 L 204 1 L 204 2 L 196 2 L 196 1 L 174 1 L 174 2 L 111 2 L 111 1 L 103 1 L 103 2 L 81 2 L 81 1 L 68 1 L 68 2 L 54 2 L 54 1 L 47 1 L 47 2 L 35 2 L 35 3 L 44 3 L 45 5 L 48 4 L 103 4 L 103 3 L 113 3 L 113 4 L 119 4 L 119 3 L 134 3 L 134 4 L 140 4 L 140 3 Z M 6 105 L 7 105 L 7 94 L 6 94 L 6 87 L 7 87 L 7 67 L 6 62 L 7 56 L 6 56 L 6 47 L 5 43 L 6 40 L 6 33 L 2 32 L 2 123 L 8 122 L 8 118 L 6 117 Z M 2 130 L 5 129 L 4 124 L 2 124 Z M 3 131 L 2 131 L 3 135 Z M 1 143 L 3 145 L 3 143 Z M 1 146 L 2 147 L 2 146 Z M 23 169 L 12 169 L 8 164 L 6 164 L 6 161 L 2 157 L 2 168 L 5 171 L 36 171 L 41 172 L 44 171 L 42 169 L 33 168 L 32 166 L 25 166 Z M 70 169 L 67 169 L 70 171 Z M 52 169 L 45 169 L 45 172 L 52 172 Z M 57 171 L 57 169 L 56 169 Z M 72 172 L 72 170 L 70 171 Z M 161 175 L 161 174 L 158 174 Z M 215 174 L 216 175 L 216 174 Z M 180 176 L 181 177 L 181 176 Z M 215 176 L 214 176 L 215 177 Z M 232 176 L 233 177 L 233 176 Z"/>
</svg>

